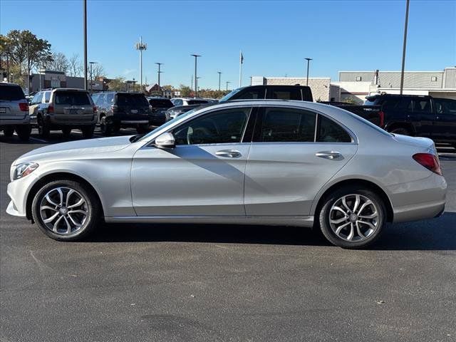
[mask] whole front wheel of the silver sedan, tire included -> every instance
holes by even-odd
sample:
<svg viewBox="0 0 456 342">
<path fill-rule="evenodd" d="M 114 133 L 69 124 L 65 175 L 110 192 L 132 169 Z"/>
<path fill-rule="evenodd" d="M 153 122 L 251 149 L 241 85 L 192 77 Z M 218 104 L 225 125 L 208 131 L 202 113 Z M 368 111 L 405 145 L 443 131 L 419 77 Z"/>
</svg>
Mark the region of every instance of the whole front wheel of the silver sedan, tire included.
<svg viewBox="0 0 456 342">
<path fill-rule="evenodd" d="M 44 185 L 32 202 L 33 220 L 48 237 L 78 241 L 95 230 L 100 219 L 98 197 L 88 186 L 73 180 Z"/>
</svg>

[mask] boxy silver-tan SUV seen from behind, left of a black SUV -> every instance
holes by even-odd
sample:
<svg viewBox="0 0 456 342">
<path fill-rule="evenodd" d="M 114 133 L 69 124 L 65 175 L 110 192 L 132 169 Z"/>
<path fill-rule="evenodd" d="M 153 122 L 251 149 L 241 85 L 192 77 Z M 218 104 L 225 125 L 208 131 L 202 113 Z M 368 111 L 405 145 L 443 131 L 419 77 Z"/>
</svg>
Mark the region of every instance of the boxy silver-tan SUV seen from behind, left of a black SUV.
<svg viewBox="0 0 456 342">
<path fill-rule="evenodd" d="M 30 118 L 43 138 L 48 138 L 51 130 L 70 135 L 73 129 L 80 129 L 84 138 L 92 138 L 98 120 L 97 108 L 87 90 L 72 88 L 36 93 L 30 103 Z"/>
</svg>

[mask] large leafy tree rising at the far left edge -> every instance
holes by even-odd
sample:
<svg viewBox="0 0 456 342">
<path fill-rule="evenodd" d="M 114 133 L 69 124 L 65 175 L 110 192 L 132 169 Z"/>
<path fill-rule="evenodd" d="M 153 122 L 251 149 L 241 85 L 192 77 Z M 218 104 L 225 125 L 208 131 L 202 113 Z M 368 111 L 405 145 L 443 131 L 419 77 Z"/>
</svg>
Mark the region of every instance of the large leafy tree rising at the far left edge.
<svg viewBox="0 0 456 342">
<path fill-rule="evenodd" d="M 27 70 L 28 48 L 31 69 L 52 61 L 51 44 L 46 39 L 37 38 L 31 31 L 11 30 L 6 36 L 0 35 L 1 53 L 9 52 L 11 64 L 19 66 L 21 73 Z"/>
</svg>

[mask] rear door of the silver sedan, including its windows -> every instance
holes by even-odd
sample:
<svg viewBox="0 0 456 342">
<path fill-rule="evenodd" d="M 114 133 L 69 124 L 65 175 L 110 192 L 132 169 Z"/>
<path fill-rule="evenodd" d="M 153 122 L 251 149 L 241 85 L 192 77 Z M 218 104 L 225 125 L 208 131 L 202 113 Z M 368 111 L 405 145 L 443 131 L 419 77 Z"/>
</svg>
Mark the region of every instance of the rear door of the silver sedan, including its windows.
<svg viewBox="0 0 456 342">
<path fill-rule="evenodd" d="M 358 149 L 335 121 L 310 110 L 261 108 L 245 180 L 247 216 L 306 216 L 318 191 Z"/>
</svg>

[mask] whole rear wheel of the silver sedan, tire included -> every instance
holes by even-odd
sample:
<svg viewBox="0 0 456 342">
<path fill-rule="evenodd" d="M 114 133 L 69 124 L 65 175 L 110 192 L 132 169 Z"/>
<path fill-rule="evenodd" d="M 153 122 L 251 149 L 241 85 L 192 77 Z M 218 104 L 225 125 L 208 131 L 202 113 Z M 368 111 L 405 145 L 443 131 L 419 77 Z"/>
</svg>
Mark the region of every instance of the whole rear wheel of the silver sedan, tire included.
<svg viewBox="0 0 456 342">
<path fill-rule="evenodd" d="M 318 215 L 321 232 L 332 244 L 354 249 L 378 239 L 386 222 L 383 200 L 375 192 L 343 187 L 323 200 Z"/>
</svg>

